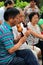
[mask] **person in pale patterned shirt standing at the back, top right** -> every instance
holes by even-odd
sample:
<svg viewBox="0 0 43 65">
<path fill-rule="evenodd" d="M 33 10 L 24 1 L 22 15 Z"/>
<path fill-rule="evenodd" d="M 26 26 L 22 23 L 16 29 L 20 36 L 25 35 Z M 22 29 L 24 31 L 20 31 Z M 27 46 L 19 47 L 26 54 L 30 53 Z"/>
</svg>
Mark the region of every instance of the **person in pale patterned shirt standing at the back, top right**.
<svg viewBox="0 0 43 65">
<path fill-rule="evenodd" d="M 32 12 L 39 12 L 39 8 L 37 7 L 35 0 L 30 0 L 30 4 L 24 8 L 26 23 L 29 22 L 28 15 Z"/>
</svg>

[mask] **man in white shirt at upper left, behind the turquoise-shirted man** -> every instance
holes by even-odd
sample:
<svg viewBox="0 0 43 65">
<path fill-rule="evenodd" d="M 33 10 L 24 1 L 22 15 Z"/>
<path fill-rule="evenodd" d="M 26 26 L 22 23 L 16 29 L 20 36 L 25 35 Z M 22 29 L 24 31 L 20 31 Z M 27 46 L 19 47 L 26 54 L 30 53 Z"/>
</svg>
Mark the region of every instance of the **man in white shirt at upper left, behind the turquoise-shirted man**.
<svg viewBox="0 0 43 65">
<path fill-rule="evenodd" d="M 7 8 L 13 7 L 14 6 L 14 2 L 13 0 L 6 0 L 4 3 L 4 6 L 0 8 L 0 24 L 2 24 L 4 22 L 4 12 Z"/>
</svg>

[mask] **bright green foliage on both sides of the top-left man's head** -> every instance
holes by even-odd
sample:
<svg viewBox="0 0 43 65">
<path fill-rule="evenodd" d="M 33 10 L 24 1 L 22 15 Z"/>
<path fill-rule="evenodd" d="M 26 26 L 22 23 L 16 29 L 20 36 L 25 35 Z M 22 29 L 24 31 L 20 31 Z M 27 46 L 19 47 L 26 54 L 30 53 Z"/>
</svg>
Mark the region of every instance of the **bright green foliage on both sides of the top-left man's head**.
<svg viewBox="0 0 43 65">
<path fill-rule="evenodd" d="M 22 0 L 16 0 L 16 4 L 14 4 L 14 7 L 19 7 L 24 9 L 25 6 L 27 6 L 29 3 L 28 2 L 23 2 Z M 4 6 L 4 2 L 0 2 L 0 7 Z"/>
</svg>

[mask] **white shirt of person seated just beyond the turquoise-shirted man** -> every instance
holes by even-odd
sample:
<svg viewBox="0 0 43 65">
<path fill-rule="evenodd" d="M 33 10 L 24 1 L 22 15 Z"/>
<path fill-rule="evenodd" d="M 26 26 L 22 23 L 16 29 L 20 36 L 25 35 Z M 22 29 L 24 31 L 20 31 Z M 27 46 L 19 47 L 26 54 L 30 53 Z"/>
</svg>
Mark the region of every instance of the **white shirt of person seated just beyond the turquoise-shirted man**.
<svg viewBox="0 0 43 65">
<path fill-rule="evenodd" d="M 23 31 L 22 32 L 25 33 L 26 32 L 26 28 L 23 27 L 23 24 L 22 23 L 21 23 L 21 26 L 23 28 Z M 12 27 L 12 29 L 13 29 L 14 39 L 15 39 L 16 36 L 19 35 L 20 33 L 17 31 L 17 27 L 16 26 Z M 22 50 L 22 49 L 26 49 L 26 48 L 27 48 L 27 44 L 26 44 L 26 42 L 24 42 L 20 46 L 20 48 L 18 50 Z"/>
</svg>

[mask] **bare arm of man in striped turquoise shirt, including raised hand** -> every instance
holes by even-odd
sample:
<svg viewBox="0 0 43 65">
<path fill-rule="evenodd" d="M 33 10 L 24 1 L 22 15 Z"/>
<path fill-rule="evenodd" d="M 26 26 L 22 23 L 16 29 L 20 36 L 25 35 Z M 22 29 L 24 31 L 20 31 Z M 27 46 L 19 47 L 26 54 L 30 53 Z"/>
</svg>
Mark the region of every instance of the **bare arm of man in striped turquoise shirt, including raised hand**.
<svg viewBox="0 0 43 65">
<path fill-rule="evenodd" d="M 10 54 L 14 53 L 18 48 L 26 41 L 27 37 L 30 35 L 30 30 L 26 31 L 24 36 L 21 37 L 18 43 L 16 43 L 12 48 L 8 50 Z"/>
</svg>

